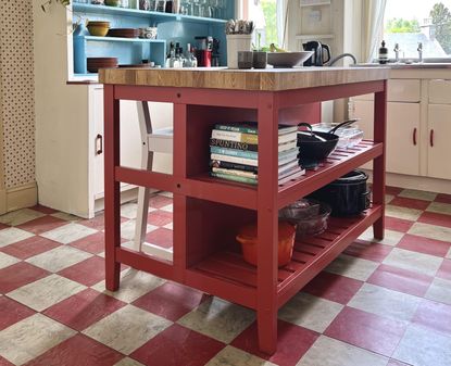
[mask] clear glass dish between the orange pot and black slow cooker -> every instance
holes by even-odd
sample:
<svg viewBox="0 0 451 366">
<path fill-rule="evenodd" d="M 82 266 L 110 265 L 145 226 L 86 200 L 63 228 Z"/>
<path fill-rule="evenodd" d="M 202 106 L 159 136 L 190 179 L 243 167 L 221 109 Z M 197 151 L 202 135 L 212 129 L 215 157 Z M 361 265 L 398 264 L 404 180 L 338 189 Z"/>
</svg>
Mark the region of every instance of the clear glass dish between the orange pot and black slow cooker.
<svg viewBox="0 0 451 366">
<path fill-rule="evenodd" d="M 279 218 L 297 226 L 296 238 L 315 236 L 327 229 L 330 206 L 312 199 L 301 199 L 284 207 Z"/>
</svg>

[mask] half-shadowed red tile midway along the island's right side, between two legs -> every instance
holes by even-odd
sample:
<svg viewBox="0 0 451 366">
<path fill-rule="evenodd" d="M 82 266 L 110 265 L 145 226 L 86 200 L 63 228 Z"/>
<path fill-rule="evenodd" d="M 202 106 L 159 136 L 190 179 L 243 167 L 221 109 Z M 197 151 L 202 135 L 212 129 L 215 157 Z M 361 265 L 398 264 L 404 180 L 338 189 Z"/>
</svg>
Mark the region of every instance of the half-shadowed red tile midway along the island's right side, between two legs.
<svg viewBox="0 0 451 366">
<path fill-rule="evenodd" d="M 302 291 L 346 305 L 362 285 L 356 279 L 322 272 Z"/>
</svg>

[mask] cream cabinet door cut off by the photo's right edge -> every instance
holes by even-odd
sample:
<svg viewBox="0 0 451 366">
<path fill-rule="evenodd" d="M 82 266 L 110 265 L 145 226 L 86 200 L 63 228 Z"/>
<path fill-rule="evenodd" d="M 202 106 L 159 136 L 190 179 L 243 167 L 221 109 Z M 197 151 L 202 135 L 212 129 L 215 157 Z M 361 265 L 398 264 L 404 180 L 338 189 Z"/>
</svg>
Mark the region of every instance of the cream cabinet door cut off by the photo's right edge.
<svg viewBox="0 0 451 366">
<path fill-rule="evenodd" d="M 451 179 L 451 105 L 429 104 L 427 175 Z"/>
</svg>

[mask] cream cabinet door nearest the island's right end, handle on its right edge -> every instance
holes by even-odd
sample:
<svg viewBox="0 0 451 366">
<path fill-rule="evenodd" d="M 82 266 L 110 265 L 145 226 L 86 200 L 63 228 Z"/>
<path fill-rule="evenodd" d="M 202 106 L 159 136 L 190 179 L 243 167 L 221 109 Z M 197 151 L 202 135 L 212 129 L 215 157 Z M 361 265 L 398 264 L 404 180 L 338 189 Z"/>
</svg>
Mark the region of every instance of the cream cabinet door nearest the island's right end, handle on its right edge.
<svg viewBox="0 0 451 366">
<path fill-rule="evenodd" d="M 419 103 L 387 106 L 387 172 L 419 175 Z"/>
</svg>

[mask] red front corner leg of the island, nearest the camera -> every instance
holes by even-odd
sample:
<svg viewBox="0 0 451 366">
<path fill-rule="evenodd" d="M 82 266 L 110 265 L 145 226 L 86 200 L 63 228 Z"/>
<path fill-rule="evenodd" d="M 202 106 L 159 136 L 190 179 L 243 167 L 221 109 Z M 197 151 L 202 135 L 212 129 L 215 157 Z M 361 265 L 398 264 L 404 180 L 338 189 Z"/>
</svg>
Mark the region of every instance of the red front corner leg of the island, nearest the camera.
<svg viewBox="0 0 451 366">
<path fill-rule="evenodd" d="M 258 307 L 259 348 L 277 350 L 277 256 L 278 256 L 278 109 L 274 94 L 261 94 L 259 123 L 258 191 Z M 264 149 L 262 149 L 264 147 Z"/>
</svg>

